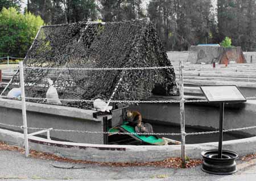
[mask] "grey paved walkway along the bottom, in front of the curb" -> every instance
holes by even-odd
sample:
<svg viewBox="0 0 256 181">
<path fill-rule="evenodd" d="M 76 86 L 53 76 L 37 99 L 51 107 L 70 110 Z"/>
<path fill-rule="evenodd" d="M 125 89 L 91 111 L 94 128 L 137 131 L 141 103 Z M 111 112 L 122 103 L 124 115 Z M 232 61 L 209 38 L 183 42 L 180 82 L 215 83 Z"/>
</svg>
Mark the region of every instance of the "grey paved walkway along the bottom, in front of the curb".
<svg viewBox="0 0 256 181">
<path fill-rule="evenodd" d="M 228 181 L 256 180 L 256 159 L 238 161 L 238 172 L 234 175 L 210 175 L 193 169 L 163 169 L 159 167 L 106 167 L 75 165 L 84 169 L 57 169 L 73 166 L 72 163 L 25 158 L 17 151 L 0 151 L 0 180 L 196 180 Z"/>
</svg>

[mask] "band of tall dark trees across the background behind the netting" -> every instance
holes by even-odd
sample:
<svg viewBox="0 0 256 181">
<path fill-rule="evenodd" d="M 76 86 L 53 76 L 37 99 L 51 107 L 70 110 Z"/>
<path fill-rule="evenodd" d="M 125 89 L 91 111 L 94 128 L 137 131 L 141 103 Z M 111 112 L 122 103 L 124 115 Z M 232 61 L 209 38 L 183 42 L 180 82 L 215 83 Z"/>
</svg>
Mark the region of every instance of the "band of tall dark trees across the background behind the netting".
<svg viewBox="0 0 256 181">
<path fill-rule="evenodd" d="M 191 45 L 221 43 L 230 37 L 234 46 L 256 51 L 255 0 L 148 0 L 144 6 L 145 1 L 27 0 L 24 11 L 39 15 L 46 24 L 149 17 L 166 50 L 188 50 Z M 14 7 L 21 11 L 21 5 L 21 0 L 0 0 L 0 10 Z"/>
</svg>

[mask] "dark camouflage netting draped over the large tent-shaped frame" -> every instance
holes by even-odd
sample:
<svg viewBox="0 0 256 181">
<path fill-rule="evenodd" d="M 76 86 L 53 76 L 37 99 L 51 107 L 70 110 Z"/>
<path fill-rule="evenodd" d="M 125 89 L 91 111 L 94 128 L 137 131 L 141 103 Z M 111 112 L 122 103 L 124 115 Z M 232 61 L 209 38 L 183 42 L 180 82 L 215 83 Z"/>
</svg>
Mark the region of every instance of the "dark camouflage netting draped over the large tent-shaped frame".
<svg viewBox="0 0 256 181">
<path fill-rule="evenodd" d="M 28 51 L 24 64 L 33 67 L 67 68 L 24 69 L 27 97 L 46 98 L 46 78 L 52 79 L 61 99 L 108 100 L 121 77 L 122 81 L 113 100 L 146 99 L 151 96 L 155 85 L 162 87 L 164 95 L 177 95 L 179 92 L 173 68 L 68 69 L 171 66 L 155 28 L 147 19 L 105 24 L 81 22 L 44 26 Z M 92 108 L 92 103 L 62 103 L 66 106 Z"/>
</svg>

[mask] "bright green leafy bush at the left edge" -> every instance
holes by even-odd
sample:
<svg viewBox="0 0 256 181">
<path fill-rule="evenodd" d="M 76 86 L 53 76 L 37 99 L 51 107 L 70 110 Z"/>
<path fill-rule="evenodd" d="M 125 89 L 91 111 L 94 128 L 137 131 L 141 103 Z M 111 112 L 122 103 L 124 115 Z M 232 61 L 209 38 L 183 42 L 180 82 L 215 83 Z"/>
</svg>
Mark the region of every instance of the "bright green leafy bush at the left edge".
<svg viewBox="0 0 256 181">
<path fill-rule="evenodd" d="M 43 24 L 40 16 L 4 7 L 0 13 L 0 56 L 24 57 Z"/>
</svg>

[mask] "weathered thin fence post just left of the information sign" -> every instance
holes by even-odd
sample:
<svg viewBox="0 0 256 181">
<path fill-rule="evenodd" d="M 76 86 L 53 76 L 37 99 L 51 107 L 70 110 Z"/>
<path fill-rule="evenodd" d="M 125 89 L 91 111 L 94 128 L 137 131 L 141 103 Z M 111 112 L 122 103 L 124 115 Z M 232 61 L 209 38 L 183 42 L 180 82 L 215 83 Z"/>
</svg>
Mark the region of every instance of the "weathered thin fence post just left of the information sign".
<svg viewBox="0 0 256 181">
<path fill-rule="evenodd" d="M 185 168 L 185 113 L 184 113 L 184 90 L 183 90 L 183 62 L 180 61 L 180 131 L 181 131 L 181 166 Z"/>
</svg>

